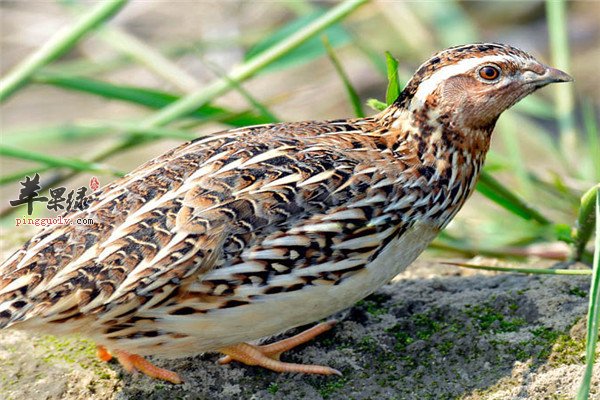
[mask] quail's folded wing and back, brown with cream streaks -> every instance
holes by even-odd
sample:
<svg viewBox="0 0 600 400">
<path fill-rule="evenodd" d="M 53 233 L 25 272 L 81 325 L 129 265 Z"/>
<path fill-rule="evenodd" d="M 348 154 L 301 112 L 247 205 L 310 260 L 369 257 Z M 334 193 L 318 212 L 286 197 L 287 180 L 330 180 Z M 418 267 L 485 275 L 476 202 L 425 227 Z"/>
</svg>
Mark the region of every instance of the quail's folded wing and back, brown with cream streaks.
<svg viewBox="0 0 600 400">
<path fill-rule="evenodd" d="M 348 123 L 227 131 L 146 163 L 65 215 L 94 225 L 46 229 L 0 267 L 0 327 L 149 307 L 257 238 L 381 200 L 367 196 L 388 179 L 377 165 L 385 160 L 364 131 Z"/>
</svg>

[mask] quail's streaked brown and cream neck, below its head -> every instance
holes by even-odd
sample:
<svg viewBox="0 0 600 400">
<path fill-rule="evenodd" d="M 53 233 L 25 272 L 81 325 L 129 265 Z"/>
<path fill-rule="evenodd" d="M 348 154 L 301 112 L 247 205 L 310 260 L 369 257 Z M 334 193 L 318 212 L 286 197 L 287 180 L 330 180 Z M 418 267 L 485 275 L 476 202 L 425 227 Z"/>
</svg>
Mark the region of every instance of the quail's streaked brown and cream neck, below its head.
<svg viewBox="0 0 600 400">
<path fill-rule="evenodd" d="M 391 106 L 378 117 L 385 126 L 381 140 L 404 171 L 401 175 L 420 182 L 423 197 L 443 199 L 443 207 L 431 204 L 433 220 L 443 228 L 475 189 L 493 126 L 458 127 L 434 109 Z"/>
</svg>

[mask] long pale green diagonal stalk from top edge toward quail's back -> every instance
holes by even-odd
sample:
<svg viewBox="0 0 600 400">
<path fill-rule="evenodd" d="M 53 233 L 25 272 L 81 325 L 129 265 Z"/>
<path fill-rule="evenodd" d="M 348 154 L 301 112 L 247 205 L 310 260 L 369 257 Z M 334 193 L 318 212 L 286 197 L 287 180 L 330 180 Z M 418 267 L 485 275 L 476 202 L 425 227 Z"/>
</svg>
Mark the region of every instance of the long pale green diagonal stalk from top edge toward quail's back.
<svg viewBox="0 0 600 400">
<path fill-rule="evenodd" d="M 242 65 L 234 68 L 228 74 L 228 79 L 219 79 L 207 87 L 183 97 L 179 101 L 163 108 L 158 113 L 144 120 L 142 124 L 145 126 L 161 126 L 187 115 L 193 110 L 213 100 L 216 96 L 227 92 L 231 88 L 229 80 L 242 82 L 250 78 L 266 66 L 283 57 L 285 54 L 298 48 L 302 43 L 305 43 L 310 38 L 321 33 L 329 26 L 336 24 L 358 7 L 365 4 L 366 1 L 367 0 L 346 0 L 343 3 L 340 3 L 309 25 L 296 31 L 296 33 L 274 44 L 260 54 L 257 54 Z"/>
</svg>

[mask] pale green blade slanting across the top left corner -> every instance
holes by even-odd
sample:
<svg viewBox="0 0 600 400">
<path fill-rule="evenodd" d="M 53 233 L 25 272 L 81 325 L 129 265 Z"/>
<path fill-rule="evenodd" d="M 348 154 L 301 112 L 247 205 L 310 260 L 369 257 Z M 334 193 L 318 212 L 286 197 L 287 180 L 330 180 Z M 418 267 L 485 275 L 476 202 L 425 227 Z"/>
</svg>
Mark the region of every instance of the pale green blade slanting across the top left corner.
<svg viewBox="0 0 600 400">
<path fill-rule="evenodd" d="M 41 67 L 57 59 L 71 49 L 86 34 L 98 25 L 110 19 L 125 4 L 126 0 L 107 0 L 98 3 L 89 13 L 81 17 L 75 24 L 58 31 L 42 47 L 17 65 L 0 81 L 0 102 L 6 100 Z"/>
</svg>

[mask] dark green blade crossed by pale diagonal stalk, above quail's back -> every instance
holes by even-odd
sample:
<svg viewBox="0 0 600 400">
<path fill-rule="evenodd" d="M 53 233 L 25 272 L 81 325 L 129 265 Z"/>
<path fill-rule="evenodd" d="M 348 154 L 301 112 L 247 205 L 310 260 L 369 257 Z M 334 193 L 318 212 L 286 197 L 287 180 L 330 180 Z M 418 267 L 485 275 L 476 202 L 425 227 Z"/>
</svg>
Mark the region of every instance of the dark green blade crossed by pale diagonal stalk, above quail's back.
<svg viewBox="0 0 600 400">
<path fill-rule="evenodd" d="M 145 107 L 161 109 L 175 103 L 181 97 L 158 90 L 138 88 L 132 86 L 114 85 L 84 77 L 71 77 L 55 74 L 40 73 L 34 76 L 36 83 L 57 86 L 63 89 L 76 90 L 102 96 L 113 100 L 122 100 Z M 258 125 L 271 122 L 265 116 L 253 116 L 250 113 L 236 113 L 222 107 L 205 104 L 190 112 L 188 117 L 198 119 L 218 119 L 226 121 L 233 126 Z"/>
</svg>

